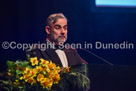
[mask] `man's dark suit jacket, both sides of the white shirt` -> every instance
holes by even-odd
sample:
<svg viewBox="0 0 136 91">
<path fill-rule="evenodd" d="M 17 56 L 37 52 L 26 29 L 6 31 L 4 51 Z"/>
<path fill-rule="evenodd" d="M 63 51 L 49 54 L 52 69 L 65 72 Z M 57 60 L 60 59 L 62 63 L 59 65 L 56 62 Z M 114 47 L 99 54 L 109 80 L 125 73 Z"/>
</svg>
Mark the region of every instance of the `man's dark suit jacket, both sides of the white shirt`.
<svg viewBox="0 0 136 91">
<path fill-rule="evenodd" d="M 66 54 L 69 67 L 76 66 L 82 63 L 87 64 L 87 62 L 79 56 L 78 52 L 75 49 L 64 49 L 64 52 Z M 26 53 L 31 57 L 38 57 L 38 59 L 43 58 L 45 60 L 51 60 L 52 62 L 62 67 L 62 63 L 59 56 L 55 52 L 55 49 L 47 49 L 45 51 L 42 51 L 40 49 L 32 49 L 27 51 Z"/>
</svg>

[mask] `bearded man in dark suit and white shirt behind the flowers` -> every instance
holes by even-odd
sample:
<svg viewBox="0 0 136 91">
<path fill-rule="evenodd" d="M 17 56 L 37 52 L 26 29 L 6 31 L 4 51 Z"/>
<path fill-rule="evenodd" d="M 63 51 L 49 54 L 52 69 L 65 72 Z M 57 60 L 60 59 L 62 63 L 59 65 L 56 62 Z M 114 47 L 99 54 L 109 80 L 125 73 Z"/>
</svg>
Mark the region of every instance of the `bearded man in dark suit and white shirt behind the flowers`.
<svg viewBox="0 0 136 91">
<path fill-rule="evenodd" d="M 46 50 L 32 49 L 27 51 L 31 57 L 51 60 L 61 67 L 71 67 L 73 69 L 83 68 L 82 64 L 87 64 L 75 49 L 60 49 L 67 40 L 67 19 L 62 13 L 52 14 L 47 18 L 45 31 L 47 33 L 46 44 L 51 45 Z M 80 70 L 80 69 L 79 69 Z M 85 70 L 85 69 L 83 69 Z M 80 70 L 81 71 L 81 70 Z M 84 71 L 83 71 L 84 72 Z M 76 86 L 71 91 L 79 91 Z M 80 89 L 82 91 L 83 89 Z"/>
</svg>

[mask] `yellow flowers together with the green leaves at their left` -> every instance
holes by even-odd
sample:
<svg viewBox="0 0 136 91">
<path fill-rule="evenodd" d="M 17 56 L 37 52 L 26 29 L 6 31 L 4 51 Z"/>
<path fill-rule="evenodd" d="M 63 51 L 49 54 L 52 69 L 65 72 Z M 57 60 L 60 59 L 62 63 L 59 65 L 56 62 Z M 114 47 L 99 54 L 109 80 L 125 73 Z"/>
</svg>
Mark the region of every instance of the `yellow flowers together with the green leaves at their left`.
<svg viewBox="0 0 136 91">
<path fill-rule="evenodd" d="M 52 61 L 37 57 L 29 58 L 29 61 L 10 61 L 8 75 L 15 77 L 13 84 L 15 87 L 30 84 L 39 84 L 43 89 L 51 90 L 52 86 L 58 84 L 61 77 L 61 68 Z M 12 64 L 12 65 L 11 65 Z"/>
</svg>

